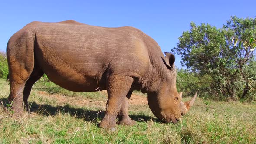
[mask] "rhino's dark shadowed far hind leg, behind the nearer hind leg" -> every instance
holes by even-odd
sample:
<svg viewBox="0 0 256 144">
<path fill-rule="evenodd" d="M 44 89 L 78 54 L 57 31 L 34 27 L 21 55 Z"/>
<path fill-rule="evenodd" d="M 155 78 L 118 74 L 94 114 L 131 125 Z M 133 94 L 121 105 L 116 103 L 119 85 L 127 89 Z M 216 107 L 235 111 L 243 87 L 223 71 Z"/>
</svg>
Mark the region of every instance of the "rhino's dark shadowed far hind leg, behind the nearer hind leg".
<svg viewBox="0 0 256 144">
<path fill-rule="evenodd" d="M 26 81 L 25 88 L 23 91 L 23 102 L 26 108 L 26 111 L 29 111 L 28 98 L 32 86 L 43 76 L 43 71 L 39 68 L 34 68 L 30 78 Z"/>
</svg>

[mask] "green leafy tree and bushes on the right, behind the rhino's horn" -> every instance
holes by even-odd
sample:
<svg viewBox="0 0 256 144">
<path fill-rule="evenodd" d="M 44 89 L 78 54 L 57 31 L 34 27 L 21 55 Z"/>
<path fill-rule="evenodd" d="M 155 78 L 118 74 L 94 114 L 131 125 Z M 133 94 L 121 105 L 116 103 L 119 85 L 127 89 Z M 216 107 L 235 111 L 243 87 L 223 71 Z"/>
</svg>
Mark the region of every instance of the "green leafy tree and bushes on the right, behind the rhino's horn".
<svg viewBox="0 0 256 144">
<path fill-rule="evenodd" d="M 252 99 L 256 65 L 251 38 L 256 37 L 256 18 L 232 16 L 220 29 L 204 23 L 197 26 L 191 22 L 190 26 L 172 50 L 181 56 L 182 66 L 186 65 L 194 75 L 208 77 L 203 82 L 208 82 L 210 95 Z M 233 37 L 243 42 L 237 46 L 238 40 L 232 41 Z M 199 87 L 205 89 L 205 85 Z"/>
</svg>

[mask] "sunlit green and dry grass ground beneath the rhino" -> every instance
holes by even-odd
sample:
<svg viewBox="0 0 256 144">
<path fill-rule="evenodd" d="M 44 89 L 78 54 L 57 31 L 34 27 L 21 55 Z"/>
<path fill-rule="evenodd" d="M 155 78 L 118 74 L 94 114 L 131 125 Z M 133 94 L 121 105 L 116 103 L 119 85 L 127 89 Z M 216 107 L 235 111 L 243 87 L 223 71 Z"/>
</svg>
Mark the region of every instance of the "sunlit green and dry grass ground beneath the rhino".
<svg viewBox="0 0 256 144">
<path fill-rule="evenodd" d="M 0 101 L 7 102 L 9 85 L 0 79 Z M 139 96 L 138 96 L 139 95 Z M 146 99 L 135 92 L 132 97 Z M 141 100 L 140 99 L 140 100 Z M 185 98 L 188 100 L 189 98 Z M 98 128 L 104 116 L 106 92 L 69 92 L 51 82 L 37 82 L 30 94 L 33 112 L 11 118 L 8 105 L 0 108 L 0 143 L 256 143 L 256 104 L 197 98 L 194 107 L 177 124 L 159 122 L 147 103 L 131 101 L 129 114 L 137 124 L 111 132 Z"/>
</svg>

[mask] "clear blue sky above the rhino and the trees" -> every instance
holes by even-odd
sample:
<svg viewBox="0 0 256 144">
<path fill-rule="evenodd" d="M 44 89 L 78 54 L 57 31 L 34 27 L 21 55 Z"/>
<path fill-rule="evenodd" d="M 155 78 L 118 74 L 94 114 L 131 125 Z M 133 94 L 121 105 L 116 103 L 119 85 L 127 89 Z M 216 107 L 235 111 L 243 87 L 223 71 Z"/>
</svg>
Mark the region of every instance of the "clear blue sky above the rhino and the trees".
<svg viewBox="0 0 256 144">
<path fill-rule="evenodd" d="M 222 27 L 230 16 L 256 16 L 256 0 L 2 0 L 0 51 L 31 21 L 76 20 L 95 26 L 134 26 L 171 52 L 190 22 Z M 176 56 L 176 65 L 180 65 Z"/>
</svg>

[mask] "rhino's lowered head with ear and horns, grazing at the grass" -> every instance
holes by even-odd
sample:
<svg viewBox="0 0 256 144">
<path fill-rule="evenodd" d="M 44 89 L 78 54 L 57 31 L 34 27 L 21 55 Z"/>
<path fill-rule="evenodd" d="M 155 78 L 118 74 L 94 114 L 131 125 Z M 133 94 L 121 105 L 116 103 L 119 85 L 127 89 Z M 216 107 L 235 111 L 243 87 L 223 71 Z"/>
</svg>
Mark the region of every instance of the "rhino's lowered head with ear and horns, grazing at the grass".
<svg viewBox="0 0 256 144">
<path fill-rule="evenodd" d="M 163 61 L 167 71 L 164 71 L 157 91 L 148 93 L 148 105 L 153 114 L 161 121 L 176 123 L 194 104 L 197 92 L 190 101 L 181 101 L 182 92 L 177 92 L 176 88 L 174 55 L 167 52 L 165 54 Z"/>
</svg>

